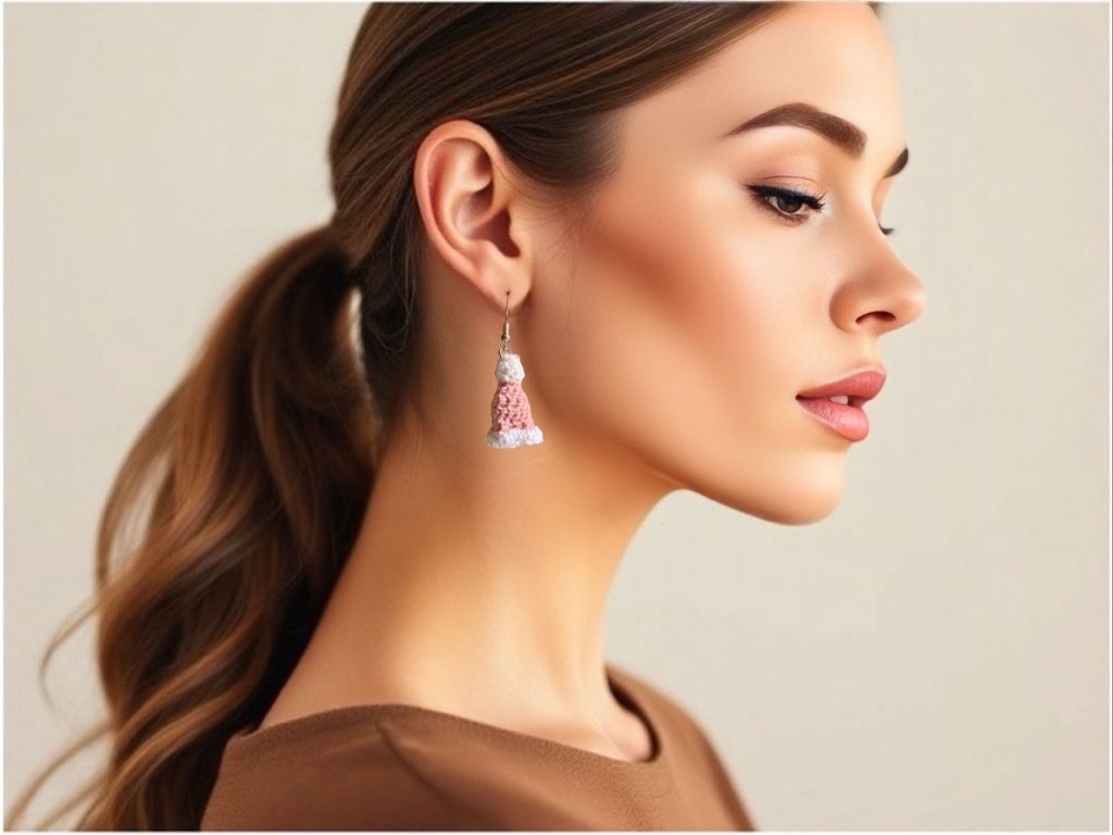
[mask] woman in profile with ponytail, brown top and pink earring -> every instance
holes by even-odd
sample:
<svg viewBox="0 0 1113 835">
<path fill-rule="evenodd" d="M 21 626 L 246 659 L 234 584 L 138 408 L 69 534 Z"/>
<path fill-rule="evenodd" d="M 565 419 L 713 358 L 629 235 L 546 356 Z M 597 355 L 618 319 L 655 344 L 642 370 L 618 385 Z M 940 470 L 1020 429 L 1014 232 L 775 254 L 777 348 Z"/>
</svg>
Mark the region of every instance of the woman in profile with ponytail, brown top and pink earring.
<svg viewBox="0 0 1113 835">
<path fill-rule="evenodd" d="M 331 223 L 247 276 L 109 495 L 80 826 L 755 827 L 604 661 L 603 603 L 674 490 L 840 498 L 925 299 L 878 223 L 875 12 L 367 10 Z"/>
</svg>

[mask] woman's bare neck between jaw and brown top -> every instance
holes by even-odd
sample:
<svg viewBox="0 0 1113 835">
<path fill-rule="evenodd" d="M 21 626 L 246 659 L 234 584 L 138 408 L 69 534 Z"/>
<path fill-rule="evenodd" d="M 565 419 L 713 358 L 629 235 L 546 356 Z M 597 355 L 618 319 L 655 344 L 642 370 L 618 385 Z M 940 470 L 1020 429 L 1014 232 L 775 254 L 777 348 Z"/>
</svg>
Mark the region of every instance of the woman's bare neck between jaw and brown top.
<svg viewBox="0 0 1113 835">
<path fill-rule="evenodd" d="M 615 727 L 604 603 L 670 485 L 560 431 L 494 450 L 482 425 L 465 441 L 436 428 L 418 439 L 412 425 L 381 455 L 311 665 L 338 665 L 354 701 L 387 694 L 492 724 Z"/>
</svg>

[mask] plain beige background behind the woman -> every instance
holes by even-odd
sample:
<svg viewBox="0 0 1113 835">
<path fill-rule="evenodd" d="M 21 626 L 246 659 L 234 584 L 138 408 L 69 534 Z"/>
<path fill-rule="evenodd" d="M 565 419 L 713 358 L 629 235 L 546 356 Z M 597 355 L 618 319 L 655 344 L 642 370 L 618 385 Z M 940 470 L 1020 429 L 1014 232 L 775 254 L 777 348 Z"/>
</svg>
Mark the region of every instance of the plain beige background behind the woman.
<svg viewBox="0 0 1113 835">
<path fill-rule="evenodd" d="M 36 668 L 125 449 L 240 272 L 331 212 L 363 8 L 4 8 L 9 803 L 97 716 L 91 630 L 57 713 Z M 845 500 L 787 528 L 673 495 L 620 569 L 609 657 L 706 724 L 761 828 L 1110 825 L 1107 21 L 887 7 L 883 220 L 929 302 L 881 343 Z"/>
</svg>

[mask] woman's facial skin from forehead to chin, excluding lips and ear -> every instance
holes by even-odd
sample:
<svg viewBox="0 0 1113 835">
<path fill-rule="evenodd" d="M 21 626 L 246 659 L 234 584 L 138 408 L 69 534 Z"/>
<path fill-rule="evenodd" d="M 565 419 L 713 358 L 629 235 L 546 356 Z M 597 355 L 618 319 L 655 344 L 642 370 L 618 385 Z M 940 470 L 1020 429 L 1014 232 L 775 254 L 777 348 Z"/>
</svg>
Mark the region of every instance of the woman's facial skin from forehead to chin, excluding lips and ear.
<svg viewBox="0 0 1113 835">
<path fill-rule="evenodd" d="M 800 102 L 857 126 L 860 153 L 800 125 L 731 132 Z M 796 395 L 883 369 L 880 336 L 925 302 L 879 228 L 905 148 L 880 22 L 865 4 L 790 4 L 631 106 L 621 141 L 574 252 L 538 242 L 514 337 L 538 423 L 766 519 L 829 513 L 855 441 Z"/>
</svg>

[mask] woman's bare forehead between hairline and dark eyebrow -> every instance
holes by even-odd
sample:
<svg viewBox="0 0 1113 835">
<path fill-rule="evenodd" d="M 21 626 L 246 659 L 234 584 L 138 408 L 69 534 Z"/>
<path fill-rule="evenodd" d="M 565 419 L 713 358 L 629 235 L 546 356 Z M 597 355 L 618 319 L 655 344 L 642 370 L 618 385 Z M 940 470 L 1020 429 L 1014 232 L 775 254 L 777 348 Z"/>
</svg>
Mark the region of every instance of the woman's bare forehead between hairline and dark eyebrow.
<svg viewBox="0 0 1113 835">
<path fill-rule="evenodd" d="M 865 3 L 787 3 L 690 75 L 631 105 L 624 141 L 633 155 L 699 151 L 740 122 L 796 101 L 865 130 L 867 158 L 888 163 L 904 147 L 896 61 Z"/>
</svg>

